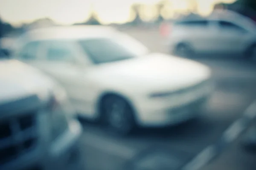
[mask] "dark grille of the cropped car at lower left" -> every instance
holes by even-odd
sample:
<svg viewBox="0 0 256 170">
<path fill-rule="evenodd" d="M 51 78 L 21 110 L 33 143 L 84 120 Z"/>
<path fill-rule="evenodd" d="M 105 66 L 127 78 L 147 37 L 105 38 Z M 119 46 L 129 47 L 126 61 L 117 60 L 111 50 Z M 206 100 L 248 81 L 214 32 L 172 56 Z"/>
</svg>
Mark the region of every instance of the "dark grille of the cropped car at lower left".
<svg viewBox="0 0 256 170">
<path fill-rule="evenodd" d="M 0 122 L 0 165 L 33 149 L 37 140 L 36 111 L 3 119 Z"/>
</svg>

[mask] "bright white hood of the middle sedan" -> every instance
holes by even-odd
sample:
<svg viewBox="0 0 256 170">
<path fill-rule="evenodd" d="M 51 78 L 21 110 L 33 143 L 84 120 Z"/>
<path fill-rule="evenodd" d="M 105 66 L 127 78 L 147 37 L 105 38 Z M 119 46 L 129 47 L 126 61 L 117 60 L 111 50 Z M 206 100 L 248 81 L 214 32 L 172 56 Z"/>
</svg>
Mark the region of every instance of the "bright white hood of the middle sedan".
<svg viewBox="0 0 256 170">
<path fill-rule="evenodd" d="M 189 59 L 166 54 L 99 65 L 96 73 L 104 80 L 123 85 L 139 85 L 139 89 L 177 90 L 209 79 L 210 69 Z"/>
</svg>

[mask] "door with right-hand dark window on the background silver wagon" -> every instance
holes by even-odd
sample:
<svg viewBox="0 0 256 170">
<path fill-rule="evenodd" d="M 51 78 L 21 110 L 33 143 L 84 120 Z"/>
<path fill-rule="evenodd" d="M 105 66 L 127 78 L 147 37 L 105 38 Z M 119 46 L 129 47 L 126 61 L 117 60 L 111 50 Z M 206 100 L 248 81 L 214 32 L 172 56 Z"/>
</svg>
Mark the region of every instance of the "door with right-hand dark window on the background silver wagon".
<svg viewBox="0 0 256 170">
<path fill-rule="evenodd" d="M 218 36 L 216 44 L 218 50 L 225 53 L 240 53 L 244 49 L 246 40 L 250 37 L 249 31 L 230 21 L 218 21 Z"/>
</svg>

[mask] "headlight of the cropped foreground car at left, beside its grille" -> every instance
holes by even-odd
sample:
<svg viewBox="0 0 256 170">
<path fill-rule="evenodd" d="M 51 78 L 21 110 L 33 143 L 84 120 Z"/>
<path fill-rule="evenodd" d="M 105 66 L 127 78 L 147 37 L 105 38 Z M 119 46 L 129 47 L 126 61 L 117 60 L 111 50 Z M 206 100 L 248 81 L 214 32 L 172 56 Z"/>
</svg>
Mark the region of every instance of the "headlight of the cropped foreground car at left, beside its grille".
<svg viewBox="0 0 256 170">
<path fill-rule="evenodd" d="M 54 89 L 49 100 L 48 110 L 50 112 L 51 139 L 55 140 L 68 129 L 68 122 L 74 115 L 63 89 Z"/>
</svg>

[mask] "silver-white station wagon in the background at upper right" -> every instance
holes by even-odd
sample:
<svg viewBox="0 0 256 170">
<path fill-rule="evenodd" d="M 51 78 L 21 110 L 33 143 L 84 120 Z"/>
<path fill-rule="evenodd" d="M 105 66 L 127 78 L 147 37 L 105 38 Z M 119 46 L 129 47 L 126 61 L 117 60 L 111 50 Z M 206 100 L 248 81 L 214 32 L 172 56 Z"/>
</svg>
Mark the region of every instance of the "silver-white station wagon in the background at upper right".
<svg viewBox="0 0 256 170">
<path fill-rule="evenodd" d="M 167 48 L 182 57 L 211 53 L 256 59 L 256 24 L 236 12 L 215 10 L 209 17 L 174 22 Z"/>
</svg>

